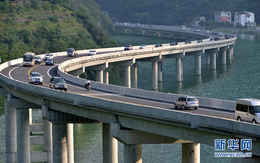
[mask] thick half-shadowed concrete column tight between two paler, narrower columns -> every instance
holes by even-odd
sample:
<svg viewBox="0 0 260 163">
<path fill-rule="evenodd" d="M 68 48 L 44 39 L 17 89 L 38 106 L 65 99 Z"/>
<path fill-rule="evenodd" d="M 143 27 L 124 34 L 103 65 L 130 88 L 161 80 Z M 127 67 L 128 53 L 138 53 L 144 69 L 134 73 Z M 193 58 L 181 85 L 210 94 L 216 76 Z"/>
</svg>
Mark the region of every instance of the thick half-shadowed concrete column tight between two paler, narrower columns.
<svg viewBox="0 0 260 163">
<path fill-rule="evenodd" d="M 52 124 L 53 163 L 67 163 L 67 124 Z"/>
</svg>

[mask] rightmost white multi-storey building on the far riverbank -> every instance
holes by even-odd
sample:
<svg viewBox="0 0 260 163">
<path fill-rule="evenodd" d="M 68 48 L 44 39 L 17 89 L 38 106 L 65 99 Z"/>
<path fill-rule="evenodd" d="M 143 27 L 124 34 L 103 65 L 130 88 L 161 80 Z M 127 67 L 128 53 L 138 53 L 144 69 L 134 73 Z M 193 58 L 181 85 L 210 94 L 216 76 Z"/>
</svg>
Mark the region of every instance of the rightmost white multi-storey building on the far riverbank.
<svg viewBox="0 0 260 163">
<path fill-rule="evenodd" d="M 235 12 L 234 25 L 255 26 L 255 14 L 248 11 Z"/>
</svg>

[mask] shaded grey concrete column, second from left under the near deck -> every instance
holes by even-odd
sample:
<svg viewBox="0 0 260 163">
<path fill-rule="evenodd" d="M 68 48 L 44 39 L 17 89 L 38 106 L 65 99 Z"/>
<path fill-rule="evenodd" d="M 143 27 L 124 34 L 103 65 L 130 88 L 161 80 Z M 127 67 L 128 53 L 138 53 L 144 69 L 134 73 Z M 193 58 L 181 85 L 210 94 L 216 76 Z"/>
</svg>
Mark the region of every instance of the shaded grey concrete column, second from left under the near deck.
<svg viewBox="0 0 260 163">
<path fill-rule="evenodd" d="M 31 162 L 29 109 L 16 109 L 17 160 Z"/>
</svg>

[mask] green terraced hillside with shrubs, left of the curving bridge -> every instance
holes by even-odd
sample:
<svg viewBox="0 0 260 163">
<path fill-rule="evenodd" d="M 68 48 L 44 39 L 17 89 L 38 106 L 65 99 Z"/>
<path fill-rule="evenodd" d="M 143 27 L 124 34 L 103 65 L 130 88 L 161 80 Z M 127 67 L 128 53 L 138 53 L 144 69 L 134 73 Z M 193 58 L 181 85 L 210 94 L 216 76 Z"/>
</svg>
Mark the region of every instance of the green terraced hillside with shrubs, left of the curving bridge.
<svg viewBox="0 0 260 163">
<path fill-rule="evenodd" d="M 113 32 L 112 20 L 94 0 L 0 0 L 2 63 L 25 52 L 116 47 L 107 36 Z"/>
</svg>

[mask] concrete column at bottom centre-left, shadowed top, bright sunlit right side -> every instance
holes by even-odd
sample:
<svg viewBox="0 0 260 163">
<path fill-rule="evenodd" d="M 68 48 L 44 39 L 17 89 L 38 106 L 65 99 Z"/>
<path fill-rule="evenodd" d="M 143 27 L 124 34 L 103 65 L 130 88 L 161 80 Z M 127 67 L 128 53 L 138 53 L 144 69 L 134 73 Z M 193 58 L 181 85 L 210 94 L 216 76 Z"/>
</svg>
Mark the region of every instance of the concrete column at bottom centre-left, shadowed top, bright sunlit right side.
<svg viewBox="0 0 260 163">
<path fill-rule="evenodd" d="M 117 140 L 111 136 L 111 125 L 102 124 L 103 163 L 118 162 Z"/>
</svg>

